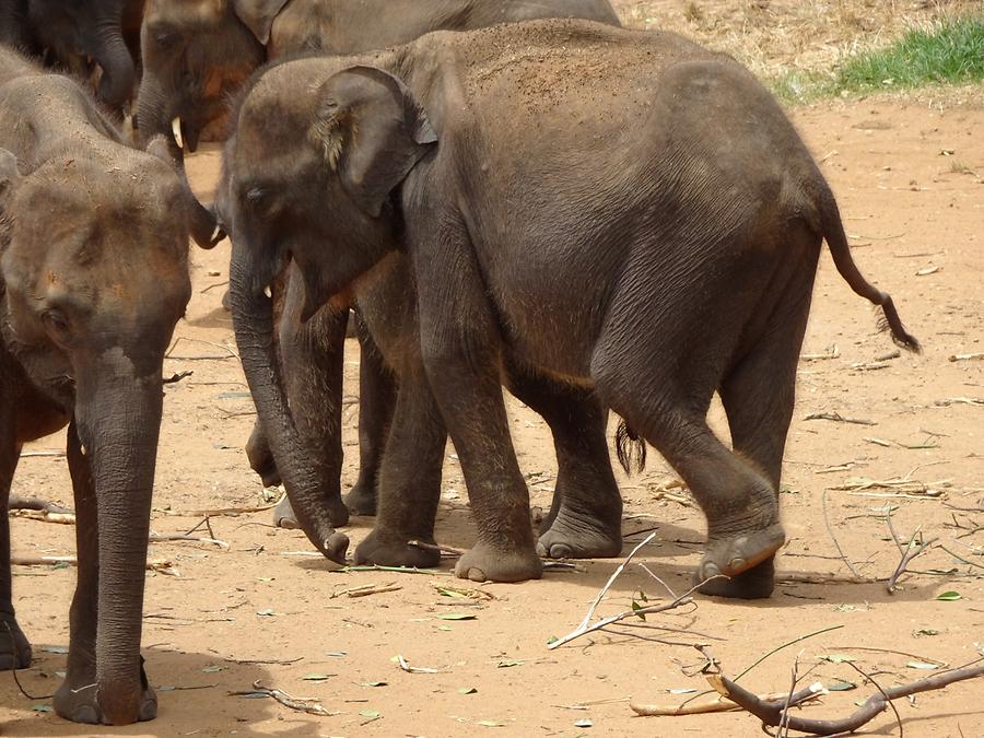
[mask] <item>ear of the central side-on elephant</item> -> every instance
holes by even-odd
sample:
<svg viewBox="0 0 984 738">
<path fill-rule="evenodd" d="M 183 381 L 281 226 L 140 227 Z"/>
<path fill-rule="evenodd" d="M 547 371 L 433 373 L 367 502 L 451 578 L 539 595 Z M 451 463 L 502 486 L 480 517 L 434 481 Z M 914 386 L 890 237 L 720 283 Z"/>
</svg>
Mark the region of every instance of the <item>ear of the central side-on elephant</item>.
<svg viewBox="0 0 984 738">
<path fill-rule="evenodd" d="M 312 139 L 359 208 L 377 218 L 389 194 L 437 142 L 407 86 L 375 67 L 350 67 L 317 92 Z"/>
</svg>

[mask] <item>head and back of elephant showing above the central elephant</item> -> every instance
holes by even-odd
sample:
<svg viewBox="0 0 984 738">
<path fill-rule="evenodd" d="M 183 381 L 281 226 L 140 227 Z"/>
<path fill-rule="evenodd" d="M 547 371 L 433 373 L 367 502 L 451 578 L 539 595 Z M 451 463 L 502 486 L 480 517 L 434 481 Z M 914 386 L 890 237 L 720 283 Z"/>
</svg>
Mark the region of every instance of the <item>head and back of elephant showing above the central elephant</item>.
<svg viewBox="0 0 984 738">
<path fill-rule="evenodd" d="M 466 31 L 536 17 L 618 24 L 608 0 L 148 0 L 137 106 L 141 140 L 173 137 L 194 152 L 221 127 L 229 97 L 269 59 L 355 54 L 438 28 Z"/>
</svg>

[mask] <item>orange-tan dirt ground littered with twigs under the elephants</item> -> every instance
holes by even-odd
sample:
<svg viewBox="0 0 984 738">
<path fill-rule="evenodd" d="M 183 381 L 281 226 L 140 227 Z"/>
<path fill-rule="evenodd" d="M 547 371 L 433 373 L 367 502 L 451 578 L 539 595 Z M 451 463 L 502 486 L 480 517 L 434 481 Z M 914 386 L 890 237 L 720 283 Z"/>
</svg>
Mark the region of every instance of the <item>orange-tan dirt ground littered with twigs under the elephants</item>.
<svg viewBox="0 0 984 738">
<path fill-rule="evenodd" d="M 550 571 L 539 582 L 488 584 L 477 587 L 480 594 L 473 597 L 455 597 L 442 589 L 471 585 L 450 575 L 450 560 L 433 574 L 335 573 L 320 558 L 292 555 L 311 547 L 300 531 L 271 528 L 269 512 L 214 515 L 212 531 L 227 548 L 187 541 L 151 544 L 151 558 L 173 562 L 179 574 L 148 575 L 143 654 L 157 688 L 157 719 L 113 730 L 72 725 L 48 711 L 49 699 L 27 699 L 10 675 L 0 675 L 0 733 L 758 736 L 759 722 L 748 714 L 643 718 L 630 710 L 630 699 L 678 703 L 693 696 L 681 690 L 706 689 L 700 673 L 703 658 L 688 645 L 694 643 L 708 644 L 724 671 L 735 676 L 771 651 L 829 629 L 780 649 L 741 679 L 759 692 L 784 690 L 798 659 L 798 673 L 809 672 L 807 683 L 857 684 L 804 708 L 800 714 L 809 717 L 845 716 L 856 701 L 877 691 L 854 667 L 886 688 L 932 675 L 938 670 L 934 666 L 980 658 L 981 89 L 828 101 L 795 108 L 792 116 L 837 195 L 855 259 L 872 281 L 892 292 L 925 351 L 879 361 L 894 347 L 876 332 L 871 307 L 850 292 L 829 256 L 821 259 L 784 466 L 789 542 L 778 559 L 781 585 L 770 600 L 699 597 L 695 607 L 648 618 L 647 624 L 668 630 L 631 629 L 671 643 L 591 633 L 550 651 L 548 641 L 577 626 L 618 561 L 578 562 L 574 571 Z M 206 197 L 218 164 L 214 151 L 189 162 Z M 203 518 L 200 511 L 265 504 L 243 452 L 251 403 L 234 356 L 231 320 L 220 305 L 227 258 L 226 244 L 192 251 L 195 295 L 164 371 L 165 376 L 194 374 L 167 388 L 152 520 L 159 534 L 191 529 Z M 359 353 L 356 342 L 349 343 L 345 391 L 354 400 Z M 529 410 L 514 400 L 508 405 L 532 504 L 546 508 L 555 473 L 549 434 Z M 347 484 L 355 480 L 358 413 L 353 401 L 345 410 Z M 807 419 L 813 413 L 848 422 Z M 719 407 L 712 415 L 727 437 Z M 30 450 L 62 447 L 62 438 L 51 437 Z M 677 593 L 684 591 L 700 558 L 701 514 L 679 490 L 667 491 L 673 476 L 655 453 L 644 473 L 626 478 L 619 472 L 618 478 L 625 500 L 623 553 L 644 531 L 655 530 L 656 538 L 635 562 Z M 14 492 L 70 505 L 65 459 L 23 458 Z M 438 540 L 467 548 L 473 528 L 450 445 L 443 497 Z M 912 562 L 919 573 L 903 575 L 893 595 L 885 579 L 899 563 L 900 549 L 889 522 L 903 544 L 916 532 L 936 540 Z M 370 518 L 353 519 L 345 530 L 353 546 L 371 525 Z M 15 518 L 12 527 L 16 554 L 73 552 L 70 526 Z M 866 581 L 852 582 L 844 559 Z M 48 695 L 65 667 L 74 571 L 16 566 L 14 573 L 19 618 L 35 648 L 35 661 L 20 672 L 20 680 L 28 693 Z M 365 597 L 347 594 L 390 584 L 391 590 Z M 640 590 L 651 600 L 666 597 L 646 571 L 632 564 L 598 613 L 629 609 Z M 948 591 L 960 598 L 938 599 Z M 402 670 L 397 655 L 427 671 Z M 254 682 L 315 698 L 330 715 L 230 694 L 250 690 Z M 900 700 L 905 735 L 984 735 L 981 694 L 977 680 Z M 866 729 L 874 735 L 898 731 L 891 712 Z"/>
</svg>

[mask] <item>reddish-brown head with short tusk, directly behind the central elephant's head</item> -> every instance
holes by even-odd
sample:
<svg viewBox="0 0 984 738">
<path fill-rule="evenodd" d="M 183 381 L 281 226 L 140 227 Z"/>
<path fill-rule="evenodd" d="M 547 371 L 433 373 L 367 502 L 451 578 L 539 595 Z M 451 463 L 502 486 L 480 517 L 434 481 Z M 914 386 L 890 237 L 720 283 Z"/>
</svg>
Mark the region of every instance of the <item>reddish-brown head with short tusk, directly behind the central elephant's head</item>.
<svg viewBox="0 0 984 738">
<path fill-rule="evenodd" d="M 267 58 L 286 0 L 149 0 L 141 30 L 140 141 L 163 134 L 175 155 L 221 125 L 229 97 Z"/>
</svg>

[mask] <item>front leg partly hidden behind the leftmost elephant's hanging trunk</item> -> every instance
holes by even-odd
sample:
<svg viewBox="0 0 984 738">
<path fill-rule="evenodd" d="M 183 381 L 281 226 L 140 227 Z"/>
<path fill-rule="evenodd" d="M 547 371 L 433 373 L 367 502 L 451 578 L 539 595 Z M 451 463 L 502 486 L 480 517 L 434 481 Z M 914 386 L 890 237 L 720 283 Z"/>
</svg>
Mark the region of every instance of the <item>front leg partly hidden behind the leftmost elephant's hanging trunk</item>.
<svg viewBox="0 0 984 738">
<path fill-rule="evenodd" d="M 95 485 L 89 460 L 72 421 L 68 430 L 67 456 L 75 501 L 75 547 L 79 559 L 75 594 L 69 610 L 69 655 L 65 681 L 55 692 L 55 711 L 74 723 L 103 723 L 96 694 L 96 624 L 98 622 L 99 535 Z M 143 699 L 140 719 L 157 714 L 157 698 L 147 681 L 143 659 L 140 664 Z"/>
</svg>

